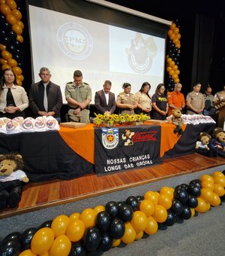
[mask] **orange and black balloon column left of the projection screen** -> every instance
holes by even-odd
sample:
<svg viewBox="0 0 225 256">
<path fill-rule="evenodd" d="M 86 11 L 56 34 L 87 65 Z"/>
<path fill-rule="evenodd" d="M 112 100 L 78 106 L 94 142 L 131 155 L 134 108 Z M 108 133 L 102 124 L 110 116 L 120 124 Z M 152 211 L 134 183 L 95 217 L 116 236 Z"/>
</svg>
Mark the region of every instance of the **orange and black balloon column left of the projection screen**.
<svg viewBox="0 0 225 256">
<path fill-rule="evenodd" d="M 17 8 L 17 2 L 13 0 L 0 0 L 1 23 L 1 70 L 13 69 L 17 84 L 23 84 L 23 71 L 21 69 L 21 44 L 23 43 L 24 24 L 21 21 L 22 14 Z"/>
</svg>

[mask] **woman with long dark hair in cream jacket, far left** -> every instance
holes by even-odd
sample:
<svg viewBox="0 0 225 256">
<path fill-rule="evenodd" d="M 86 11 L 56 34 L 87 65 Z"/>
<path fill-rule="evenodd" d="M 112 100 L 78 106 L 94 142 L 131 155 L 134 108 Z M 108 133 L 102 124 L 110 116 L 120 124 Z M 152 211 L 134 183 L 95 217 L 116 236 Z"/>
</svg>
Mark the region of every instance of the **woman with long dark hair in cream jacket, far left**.
<svg viewBox="0 0 225 256">
<path fill-rule="evenodd" d="M 28 96 L 23 87 L 17 85 L 13 69 L 5 69 L 0 80 L 0 117 L 13 119 L 25 117 Z"/>
</svg>

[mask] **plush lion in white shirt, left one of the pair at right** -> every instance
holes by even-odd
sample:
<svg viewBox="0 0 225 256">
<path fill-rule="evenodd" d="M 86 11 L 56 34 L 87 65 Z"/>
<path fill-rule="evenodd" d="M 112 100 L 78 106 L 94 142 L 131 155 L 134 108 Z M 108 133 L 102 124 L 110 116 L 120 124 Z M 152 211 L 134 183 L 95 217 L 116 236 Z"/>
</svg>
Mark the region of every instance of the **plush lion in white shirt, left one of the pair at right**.
<svg viewBox="0 0 225 256">
<path fill-rule="evenodd" d="M 217 151 L 214 148 L 208 148 L 208 144 L 211 140 L 211 135 L 208 133 L 200 133 L 199 138 L 196 141 L 195 151 L 206 157 L 217 157 Z"/>
</svg>

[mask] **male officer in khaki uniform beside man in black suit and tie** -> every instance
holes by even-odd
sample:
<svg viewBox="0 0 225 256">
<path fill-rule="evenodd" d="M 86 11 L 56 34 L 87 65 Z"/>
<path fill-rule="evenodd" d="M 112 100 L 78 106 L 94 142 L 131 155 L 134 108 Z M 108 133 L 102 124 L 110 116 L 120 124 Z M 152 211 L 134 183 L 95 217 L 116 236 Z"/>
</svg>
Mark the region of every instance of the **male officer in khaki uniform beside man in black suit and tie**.
<svg viewBox="0 0 225 256">
<path fill-rule="evenodd" d="M 74 82 L 69 82 L 65 87 L 65 99 L 69 105 L 68 115 L 70 120 L 79 123 L 90 123 L 89 104 L 92 102 L 92 89 L 83 82 L 80 70 L 74 71 Z"/>
</svg>

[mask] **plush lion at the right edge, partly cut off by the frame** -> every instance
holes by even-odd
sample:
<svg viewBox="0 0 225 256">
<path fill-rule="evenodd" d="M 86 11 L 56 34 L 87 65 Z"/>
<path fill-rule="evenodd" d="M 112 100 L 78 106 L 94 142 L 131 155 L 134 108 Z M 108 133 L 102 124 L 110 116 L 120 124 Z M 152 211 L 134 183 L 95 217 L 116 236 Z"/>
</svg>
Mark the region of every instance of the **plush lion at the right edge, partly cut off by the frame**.
<svg viewBox="0 0 225 256">
<path fill-rule="evenodd" d="M 223 128 L 216 127 L 211 132 L 211 142 L 208 147 L 217 151 L 218 156 L 225 157 L 225 132 Z"/>
</svg>

